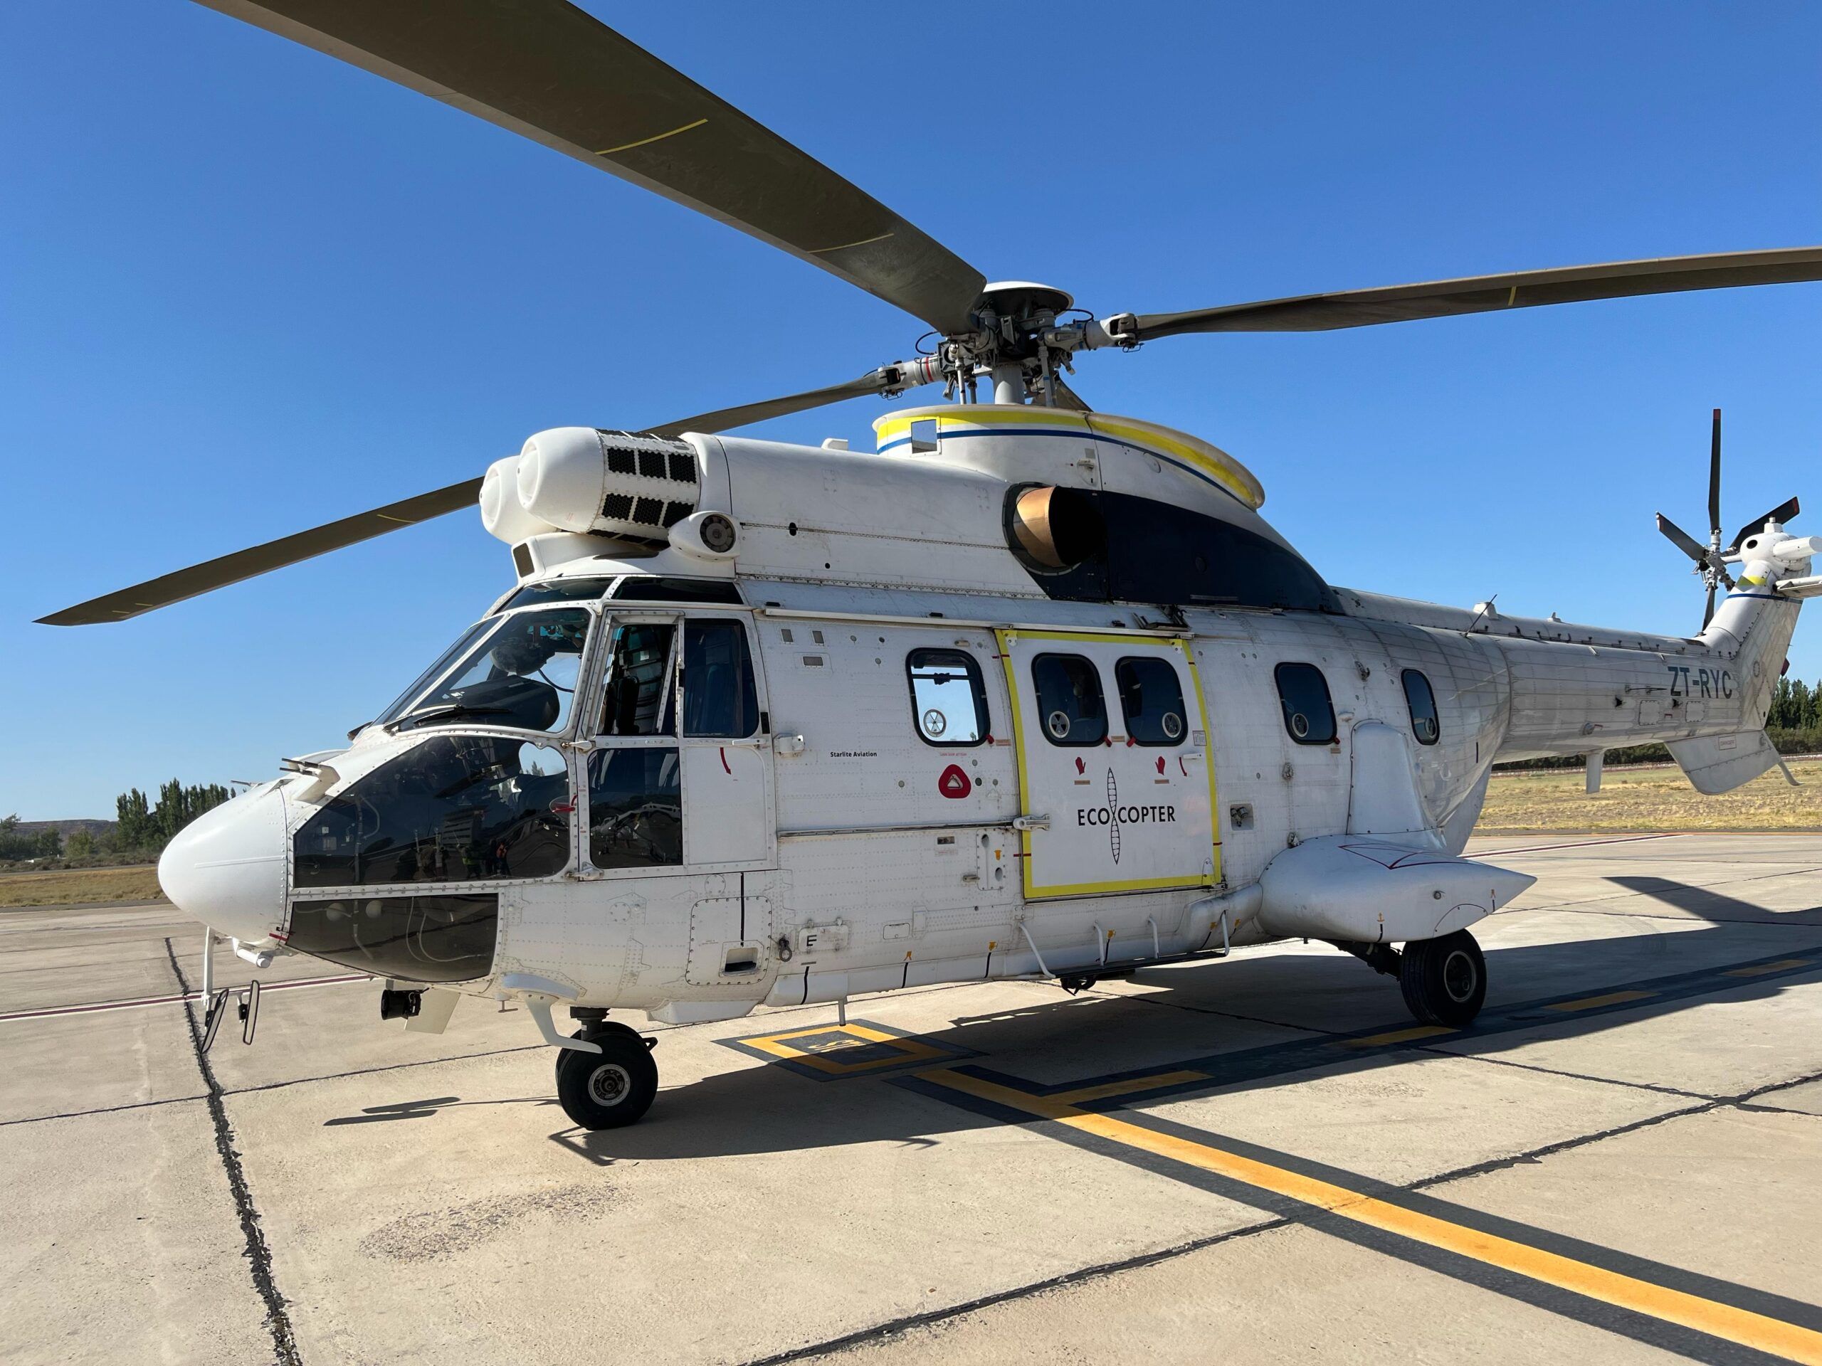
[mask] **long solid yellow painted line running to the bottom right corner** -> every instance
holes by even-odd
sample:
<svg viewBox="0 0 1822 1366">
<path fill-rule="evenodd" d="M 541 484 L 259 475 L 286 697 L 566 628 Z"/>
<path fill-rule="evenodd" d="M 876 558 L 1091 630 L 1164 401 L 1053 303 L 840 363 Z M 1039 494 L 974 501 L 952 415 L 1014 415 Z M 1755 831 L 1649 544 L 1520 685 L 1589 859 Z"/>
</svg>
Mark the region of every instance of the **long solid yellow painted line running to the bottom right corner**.
<svg viewBox="0 0 1822 1366">
<path fill-rule="evenodd" d="M 1620 1271 L 1609 1271 L 1602 1266 L 1543 1251 L 1541 1248 L 1532 1248 L 1512 1239 L 1501 1239 L 1494 1233 L 1481 1233 L 1479 1229 L 1452 1224 L 1436 1215 L 1418 1213 L 1416 1209 L 1405 1209 L 1403 1206 L 1350 1191 L 1319 1177 L 1305 1177 L 1299 1171 L 1241 1157 L 1239 1153 L 1228 1153 L 1212 1144 L 1155 1133 L 1115 1115 L 1082 1111 L 1060 1104 L 1053 1096 L 1031 1096 L 949 1069 L 918 1073 L 918 1078 L 991 1100 L 1008 1109 L 1024 1111 L 1037 1118 L 1066 1124 L 1071 1129 L 1108 1138 L 1124 1147 L 1182 1162 L 1201 1171 L 1212 1171 L 1315 1209 L 1325 1209 L 1356 1224 L 1365 1224 L 1366 1228 L 1396 1233 L 1403 1239 L 1441 1248 L 1443 1251 L 1469 1257 L 1487 1266 L 1498 1266 L 1527 1280 L 1558 1286 L 1560 1290 L 1585 1295 L 1603 1304 L 1614 1304 L 1633 1313 L 1643 1313 L 1698 1333 L 1707 1333 L 1709 1337 L 1738 1342 L 1755 1351 L 1769 1351 L 1791 1361 L 1822 1366 L 1822 1333 L 1784 1322 L 1782 1319 L 1738 1310 L 1731 1304 L 1658 1286 L 1638 1277 L 1622 1275 Z"/>
</svg>

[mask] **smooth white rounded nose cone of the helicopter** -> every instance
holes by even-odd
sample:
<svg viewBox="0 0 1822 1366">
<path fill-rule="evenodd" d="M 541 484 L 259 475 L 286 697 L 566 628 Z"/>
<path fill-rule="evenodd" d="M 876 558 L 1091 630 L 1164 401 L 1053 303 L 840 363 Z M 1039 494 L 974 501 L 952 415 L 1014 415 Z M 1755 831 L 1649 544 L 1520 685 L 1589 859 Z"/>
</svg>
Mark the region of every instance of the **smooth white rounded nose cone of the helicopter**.
<svg viewBox="0 0 1822 1366">
<path fill-rule="evenodd" d="M 262 940 L 284 922 L 284 798 L 277 787 L 224 801 L 164 849 L 159 885 L 184 914 Z"/>
</svg>

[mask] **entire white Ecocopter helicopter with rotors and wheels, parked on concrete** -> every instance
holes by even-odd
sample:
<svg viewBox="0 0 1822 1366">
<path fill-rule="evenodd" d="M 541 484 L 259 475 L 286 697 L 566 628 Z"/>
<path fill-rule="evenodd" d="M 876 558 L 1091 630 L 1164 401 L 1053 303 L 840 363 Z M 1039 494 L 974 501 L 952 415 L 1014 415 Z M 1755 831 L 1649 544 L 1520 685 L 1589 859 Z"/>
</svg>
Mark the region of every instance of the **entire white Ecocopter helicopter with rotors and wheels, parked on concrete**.
<svg viewBox="0 0 1822 1366">
<path fill-rule="evenodd" d="M 1822 537 L 1731 539 L 1720 413 L 1691 637 L 1330 585 L 1233 455 L 1100 413 L 1090 352 L 1822 279 L 1822 248 L 1223 304 L 1079 310 L 971 264 L 565 0 L 215 0 L 818 266 L 931 328 L 911 359 L 647 430 L 554 428 L 481 475 L 42 617 L 138 616 L 479 505 L 512 583 L 346 747 L 206 812 L 159 878 L 255 967 L 383 978 L 441 1033 L 519 1002 L 587 1129 L 636 1122 L 665 1024 L 931 984 L 1066 989 L 1286 938 L 1465 1027 L 1472 925 L 1532 878 L 1463 858 L 1492 765 L 1663 741 L 1702 792 L 1764 732 Z M 734 435 L 860 395 L 875 450 Z M 1724 596 L 1718 594 L 1725 590 Z M 1787 770 L 1786 770 L 1787 776 Z M 574 1033 L 554 1011 L 565 1007 Z M 257 991 L 242 1004 L 251 1038 Z"/>
</svg>

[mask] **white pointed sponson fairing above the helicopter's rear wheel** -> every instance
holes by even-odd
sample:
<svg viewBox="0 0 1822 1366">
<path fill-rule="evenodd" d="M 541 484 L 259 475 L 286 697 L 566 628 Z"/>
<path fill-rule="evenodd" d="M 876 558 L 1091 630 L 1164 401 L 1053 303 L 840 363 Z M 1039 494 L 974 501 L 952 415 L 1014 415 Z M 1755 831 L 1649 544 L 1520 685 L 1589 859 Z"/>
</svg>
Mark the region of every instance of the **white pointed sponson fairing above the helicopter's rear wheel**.
<svg viewBox="0 0 1822 1366">
<path fill-rule="evenodd" d="M 1326 834 L 1266 865 L 1259 923 L 1314 940 L 1432 940 L 1490 916 L 1534 882 L 1439 849 Z"/>
</svg>

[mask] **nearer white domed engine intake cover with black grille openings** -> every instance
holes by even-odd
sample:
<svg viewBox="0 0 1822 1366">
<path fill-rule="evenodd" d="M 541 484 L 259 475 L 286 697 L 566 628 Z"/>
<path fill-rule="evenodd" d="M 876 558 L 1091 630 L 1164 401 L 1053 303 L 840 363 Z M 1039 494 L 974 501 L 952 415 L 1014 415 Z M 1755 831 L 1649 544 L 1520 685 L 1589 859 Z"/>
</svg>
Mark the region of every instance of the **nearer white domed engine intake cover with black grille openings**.
<svg viewBox="0 0 1822 1366">
<path fill-rule="evenodd" d="M 565 532 L 663 543 L 696 512 L 696 448 L 640 432 L 558 426 L 525 443 L 519 506 Z"/>
</svg>

